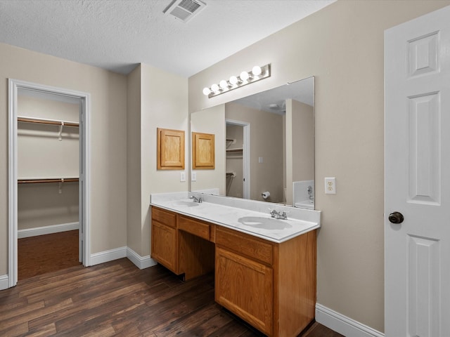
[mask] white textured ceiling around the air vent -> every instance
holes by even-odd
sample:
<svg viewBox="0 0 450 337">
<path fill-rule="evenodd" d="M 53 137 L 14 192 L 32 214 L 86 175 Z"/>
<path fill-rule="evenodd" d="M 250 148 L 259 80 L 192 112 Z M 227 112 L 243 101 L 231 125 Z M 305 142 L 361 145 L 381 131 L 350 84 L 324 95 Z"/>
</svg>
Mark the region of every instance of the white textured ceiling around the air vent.
<svg viewBox="0 0 450 337">
<path fill-rule="evenodd" d="M 0 42 L 127 74 L 143 62 L 184 77 L 334 0 L 203 0 L 182 22 L 171 0 L 0 0 Z"/>
</svg>

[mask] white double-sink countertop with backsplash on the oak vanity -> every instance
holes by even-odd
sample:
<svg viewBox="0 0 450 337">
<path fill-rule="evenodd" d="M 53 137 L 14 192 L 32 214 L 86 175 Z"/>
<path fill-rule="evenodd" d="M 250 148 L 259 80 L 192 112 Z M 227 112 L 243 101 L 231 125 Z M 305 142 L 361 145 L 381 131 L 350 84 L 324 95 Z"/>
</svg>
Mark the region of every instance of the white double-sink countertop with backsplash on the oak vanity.
<svg viewBox="0 0 450 337">
<path fill-rule="evenodd" d="M 191 195 L 201 197 L 203 202 L 198 204 L 198 206 L 186 206 L 191 202 L 193 203 L 193 200 L 189 199 Z M 177 201 L 183 202 L 179 203 Z M 320 227 L 320 211 L 195 192 L 151 194 L 150 205 L 215 223 L 216 225 L 229 227 L 233 230 L 276 243 L 288 241 L 293 237 Z M 269 214 L 269 209 L 286 211 L 288 220 L 274 220 Z M 243 221 L 243 218 L 249 220 L 248 217 L 267 218 L 273 224 L 258 227 L 257 222 Z M 239 219 L 241 220 L 239 221 Z M 252 219 L 254 220 L 254 218 L 250 218 L 250 220 Z M 247 223 L 247 225 L 244 223 Z"/>
</svg>

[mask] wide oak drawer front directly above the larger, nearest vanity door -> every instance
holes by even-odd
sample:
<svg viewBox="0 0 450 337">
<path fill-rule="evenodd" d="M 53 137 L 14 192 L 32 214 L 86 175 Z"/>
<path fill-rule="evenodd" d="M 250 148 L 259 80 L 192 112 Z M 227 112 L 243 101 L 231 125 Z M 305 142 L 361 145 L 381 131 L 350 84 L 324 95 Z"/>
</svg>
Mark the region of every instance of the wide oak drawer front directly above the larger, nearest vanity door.
<svg viewBox="0 0 450 337">
<path fill-rule="evenodd" d="M 273 246 L 263 239 L 217 226 L 216 244 L 263 263 L 273 263 Z"/>
</svg>

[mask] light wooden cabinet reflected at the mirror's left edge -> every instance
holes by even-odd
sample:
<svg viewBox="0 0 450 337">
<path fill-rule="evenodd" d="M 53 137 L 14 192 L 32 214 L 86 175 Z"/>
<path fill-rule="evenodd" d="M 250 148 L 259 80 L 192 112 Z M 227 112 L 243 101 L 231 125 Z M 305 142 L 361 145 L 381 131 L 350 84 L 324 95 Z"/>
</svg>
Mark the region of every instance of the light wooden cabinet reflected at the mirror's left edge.
<svg viewBox="0 0 450 337">
<path fill-rule="evenodd" d="M 214 135 L 192 133 L 192 169 L 214 169 Z"/>
</svg>

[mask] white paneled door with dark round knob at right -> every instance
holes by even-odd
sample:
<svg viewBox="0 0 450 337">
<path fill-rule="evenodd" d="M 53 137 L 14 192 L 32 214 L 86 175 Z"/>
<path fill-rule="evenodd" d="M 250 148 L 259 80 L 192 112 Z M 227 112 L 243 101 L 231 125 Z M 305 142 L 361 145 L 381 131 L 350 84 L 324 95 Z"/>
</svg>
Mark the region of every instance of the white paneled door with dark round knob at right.
<svg viewBox="0 0 450 337">
<path fill-rule="evenodd" d="M 450 6 L 385 32 L 385 336 L 450 336 Z"/>
</svg>

